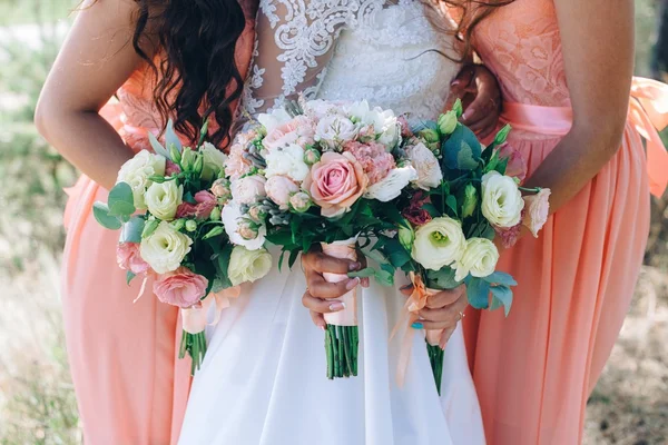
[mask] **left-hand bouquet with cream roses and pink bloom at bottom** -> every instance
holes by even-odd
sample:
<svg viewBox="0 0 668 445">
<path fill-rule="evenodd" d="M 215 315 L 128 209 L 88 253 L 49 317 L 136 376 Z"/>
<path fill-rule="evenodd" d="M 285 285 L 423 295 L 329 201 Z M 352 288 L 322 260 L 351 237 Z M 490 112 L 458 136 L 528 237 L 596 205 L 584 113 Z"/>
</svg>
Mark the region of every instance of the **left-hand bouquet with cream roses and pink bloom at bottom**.
<svg viewBox="0 0 668 445">
<path fill-rule="evenodd" d="M 187 353 L 191 372 L 199 368 L 206 353 L 204 329 L 215 324 L 235 286 L 266 275 L 269 254 L 233 246 L 220 214 L 230 199 L 224 178 L 227 157 L 204 142 L 206 125 L 196 148 L 183 147 L 171 122 L 165 132 L 165 148 L 148 135 L 155 152 L 139 151 L 118 172 L 108 201 L 94 205 L 95 218 L 104 227 L 121 229 L 117 246 L 119 267 L 127 281 L 153 277 L 153 291 L 163 303 L 181 310 L 184 333 L 179 358 Z M 139 298 L 139 297 L 137 297 Z M 216 305 L 216 316 L 207 312 Z"/>
</svg>

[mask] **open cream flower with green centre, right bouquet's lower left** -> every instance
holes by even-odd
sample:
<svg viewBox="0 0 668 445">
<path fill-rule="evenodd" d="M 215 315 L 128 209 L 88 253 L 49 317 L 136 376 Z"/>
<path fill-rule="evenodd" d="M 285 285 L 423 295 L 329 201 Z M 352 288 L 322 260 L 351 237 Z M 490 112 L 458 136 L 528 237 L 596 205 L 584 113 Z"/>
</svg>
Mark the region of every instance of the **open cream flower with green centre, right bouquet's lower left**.
<svg viewBox="0 0 668 445">
<path fill-rule="evenodd" d="M 428 269 L 440 270 L 459 261 L 464 255 L 466 238 L 459 221 L 434 218 L 415 230 L 411 257 Z"/>
</svg>

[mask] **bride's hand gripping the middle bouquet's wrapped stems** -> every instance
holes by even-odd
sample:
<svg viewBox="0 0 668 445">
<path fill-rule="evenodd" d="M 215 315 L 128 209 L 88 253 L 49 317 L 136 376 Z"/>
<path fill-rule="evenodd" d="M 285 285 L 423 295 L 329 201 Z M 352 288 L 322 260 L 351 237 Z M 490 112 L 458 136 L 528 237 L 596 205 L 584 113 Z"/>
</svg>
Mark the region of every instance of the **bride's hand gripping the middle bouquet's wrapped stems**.
<svg viewBox="0 0 668 445">
<path fill-rule="evenodd" d="M 302 268 L 306 276 L 306 291 L 302 304 L 311 310 L 313 323 L 325 329 L 327 323 L 323 314 L 343 310 L 344 306 L 336 298 L 354 289 L 357 285 L 369 287 L 369 278 L 348 278 L 338 283 L 328 283 L 323 274 L 346 275 L 350 271 L 362 270 L 366 267 L 366 257 L 357 250 L 357 260 L 334 258 L 323 254 L 320 245 L 302 255 Z"/>
</svg>

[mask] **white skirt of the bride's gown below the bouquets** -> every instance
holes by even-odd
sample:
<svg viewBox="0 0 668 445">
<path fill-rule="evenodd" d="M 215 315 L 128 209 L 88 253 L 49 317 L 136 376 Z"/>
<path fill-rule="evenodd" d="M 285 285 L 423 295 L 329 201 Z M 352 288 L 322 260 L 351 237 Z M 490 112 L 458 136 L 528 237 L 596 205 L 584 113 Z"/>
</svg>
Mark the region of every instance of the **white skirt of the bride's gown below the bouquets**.
<svg viewBox="0 0 668 445">
<path fill-rule="evenodd" d="M 324 332 L 302 306 L 299 263 L 272 273 L 223 313 L 196 374 L 180 445 L 481 445 L 484 432 L 461 327 L 445 348 L 441 396 L 424 335 L 395 382 L 405 297 L 358 288 L 358 376 L 328 380 Z M 285 265 L 284 265 L 285 266 Z M 403 279 L 405 281 L 405 279 Z M 409 328 L 410 329 L 410 328 Z"/>
</svg>

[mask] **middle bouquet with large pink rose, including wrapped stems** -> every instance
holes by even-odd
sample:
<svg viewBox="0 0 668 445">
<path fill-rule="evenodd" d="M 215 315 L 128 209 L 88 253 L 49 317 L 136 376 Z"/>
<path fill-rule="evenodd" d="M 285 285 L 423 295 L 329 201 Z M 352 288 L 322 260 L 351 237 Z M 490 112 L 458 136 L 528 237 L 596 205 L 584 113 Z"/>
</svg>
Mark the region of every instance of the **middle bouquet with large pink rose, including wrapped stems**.
<svg viewBox="0 0 668 445">
<path fill-rule="evenodd" d="M 281 246 L 279 267 L 286 256 L 292 267 L 314 244 L 355 259 L 357 238 L 392 228 L 401 215 L 389 201 L 418 179 L 401 140 L 401 120 L 366 101 L 301 100 L 261 115 L 237 136 L 226 165 L 229 239 L 249 250 L 265 240 Z M 391 284 L 393 270 L 385 267 L 375 275 Z M 325 315 L 328 378 L 357 375 L 355 289 L 341 300 L 344 310 Z"/>
</svg>

